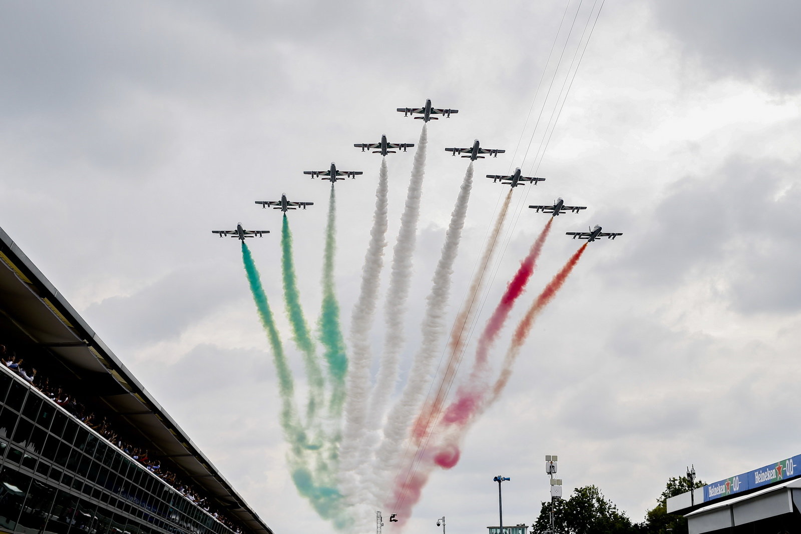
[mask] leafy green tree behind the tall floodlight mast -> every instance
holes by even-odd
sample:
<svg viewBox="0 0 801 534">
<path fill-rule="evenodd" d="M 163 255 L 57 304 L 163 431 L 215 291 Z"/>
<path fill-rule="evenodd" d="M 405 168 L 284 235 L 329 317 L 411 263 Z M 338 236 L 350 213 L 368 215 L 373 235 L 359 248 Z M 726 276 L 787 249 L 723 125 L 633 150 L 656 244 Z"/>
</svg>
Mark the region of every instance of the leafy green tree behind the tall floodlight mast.
<svg viewBox="0 0 801 534">
<path fill-rule="evenodd" d="M 534 534 L 544 534 L 550 528 L 550 503 L 542 503 L 540 516 L 533 524 Z M 567 500 L 557 499 L 553 505 L 554 527 L 559 534 L 637 534 L 638 524 L 632 524 L 611 500 L 595 486 L 576 488 Z"/>
</svg>

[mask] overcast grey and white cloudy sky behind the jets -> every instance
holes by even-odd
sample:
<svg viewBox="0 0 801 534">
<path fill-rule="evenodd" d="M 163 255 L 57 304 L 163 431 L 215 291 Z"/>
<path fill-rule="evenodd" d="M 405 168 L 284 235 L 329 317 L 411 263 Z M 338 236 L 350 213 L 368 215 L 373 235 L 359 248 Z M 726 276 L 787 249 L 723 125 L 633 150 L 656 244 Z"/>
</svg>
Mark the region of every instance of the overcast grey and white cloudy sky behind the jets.
<svg viewBox="0 0 801 534">
<path fill-rule="evenodd" d="M 562 69 L 593 2 L 582 2 Z M 332 532 L 288 479 L 239 247 L 210 231 L 237 221 L 273 231 L 251 246 L 288 339 L 280 213 L 253 202 L 285 192 L 316 203 L 291 214 L 314 319 L 328 183 L 301 173 L 332 160 L 364 171 L 337 186 L 349 319 L 380 163 L 352 143 L 382 133 L 415 143 L 421 121 L 396 107 L 457 108 L 430 123 L 412 295 L 428 291 L 465 169 L 442 149 L 475 138 L 507 152 L 476 164 L 451 316 L 505 194 L 485 174 L 541 161 L 547 178 L 515 191 L 488 303 L 545 223 L 517 207 L 557 196 L 589 207 L 555 222 L 526 303 L 575 250 L 564 231 L 625 235 L 590 246 L 411 526 L 437 532 L 443 515 L 449 532 L 497 524 L 497 474 L 512 478 L 505 523 L 530 524 L 548 498 L 545 454 L 560 456 L 566 492 L 596 484 L 641 520 L 687 464 L 714 481 L 799 453 L 801 5 L 609 0 L 537 159 L 542 130 L 524 124 L 543 105 L 538 82 L 553 78 L 565 10 L 565 0 L 5 2 L 0 226 L 276 532 Z M 528 157 L 513 159 L 529 139 Z M 388 158 L 390 237 L 412 157 Z M 423 306 L 409 303 L 406 358 Z M 501 338 L 498 358 L 509 328 Z"/>
</svg>

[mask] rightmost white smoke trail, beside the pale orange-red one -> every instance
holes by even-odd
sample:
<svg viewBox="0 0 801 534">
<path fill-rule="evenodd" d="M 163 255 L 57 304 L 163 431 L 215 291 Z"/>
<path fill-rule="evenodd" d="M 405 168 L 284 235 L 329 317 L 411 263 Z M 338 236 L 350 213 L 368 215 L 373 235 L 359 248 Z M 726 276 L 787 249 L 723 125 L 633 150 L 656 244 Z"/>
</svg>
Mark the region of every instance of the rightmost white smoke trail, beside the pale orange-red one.
<svg viewBox="0 0 801 534">
<path fill-rule="evenodd" d="M 451 287 L 453 263 L 456 261 L 461 241 L 461 231 L 465 227 L 467 206 L 470 191 L 473 188 L 473 162 L 470 162 L 461 183 L 456 204 L 451 213 L 448 231 L 445 232 L 445 243 L 432 277 L 432 286 L 425 307 L 425 315 L 421 325 L 422 342 L 420 350 L 414 356 L 409 379 L 400 394 L 400 399 L 392 407 L 384 425 L 384 439 L 376 452 L 372 466 L 375 484 L 374 495 L 383 503 L 392 486 L 397 468 L 403 459 L 403 448 L 415 413 L 425 396 L 425 390 L 431 382 L 429 374 L 434 359 L 441 353 L 441 341 L 445 337 L 445 308 Z"/>
</svg>

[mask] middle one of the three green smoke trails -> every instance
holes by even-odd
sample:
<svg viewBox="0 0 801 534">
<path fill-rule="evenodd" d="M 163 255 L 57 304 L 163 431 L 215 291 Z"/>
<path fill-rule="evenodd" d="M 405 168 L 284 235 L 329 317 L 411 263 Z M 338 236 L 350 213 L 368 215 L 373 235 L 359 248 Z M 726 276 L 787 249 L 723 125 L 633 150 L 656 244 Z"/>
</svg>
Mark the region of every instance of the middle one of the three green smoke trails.
<svg viewBox="0 0 801 534">
<path fill-rule="evenodd" d="M 287 308 L 289 323 L 292 325 L 293 340 L 303 353 L 304 366 L 308 377 L 308 407 L 307 417 L 310 423 L 316 420 L 317 408 L 323 403 L 325 387 L 323 372 L 317 363 L 314 342 L 309 334 L 308 324 L 300 307 L 300 293 L 295 275 L 295 263 L 292 259 L 292 232 L 289 231 L 289 221 L 284 215 L 284 224 L 281 227 L 281 270 L 284 280 L 284 304 Z"/>
</svg>

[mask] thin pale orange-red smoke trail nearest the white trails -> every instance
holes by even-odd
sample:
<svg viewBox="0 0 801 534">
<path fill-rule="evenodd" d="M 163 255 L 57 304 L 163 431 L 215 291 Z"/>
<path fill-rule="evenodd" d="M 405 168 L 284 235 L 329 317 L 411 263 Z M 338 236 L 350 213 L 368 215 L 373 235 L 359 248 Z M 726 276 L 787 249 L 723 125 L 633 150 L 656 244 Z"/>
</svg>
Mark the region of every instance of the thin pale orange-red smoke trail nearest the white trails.
<svg viewBox="0 0 801 534">
<path fill-rule="evenodd" d="M 512 200 L 512 191 L 513 189 L 510 187 L 509 193 L 507 193 L 504 203 L 501 205 L 501 211 L 498 213 L 497 219 L 495 219 L 495 225 L 493 226 L 493 230 L 489 235 L 489 239 L 487 240 L 487 246 L 485 247 L 484 254 L 481 256 L 478 271 L 473 277 L 473 282 L 470 283 L 465 303 L 462 304 L 459 315 L 457 315 L 457 319 L 453 324 L 453 330 L 451 330 L 451 339 L 448 345 L 450 354 L 448 357 L 448 362 L 445 365 L 445 372 L 443 372 L 440 383 L 437 386 L 437 396 L 434 397 L 433 401 L 425 405 L 414 423 L 412 437 L 415 444 L 419 445 L 421 441 L 425 439 L 431 424 L 433 421 L 437 420 L 437 417 L 439 417 L 442 410 L 442 404 L 445 402 L 445 395 L 448 394 L 450 384 L 453 382 L 453 377 L 456 374 L 457 367 L 459 367 L 462 348 L 464 347 L 465 343 L 465 334 L 469 331 L 469 323 L 473 322 L 473 316 L 475 315 L 477 308 L 477 298 L 484 287 L 484 279 L 487 267 L 489 266 L 489 261 L 493 257 L 498 235 L 500 235 L 501 227 L 503 227 L 503 223 L 506 219 L 506 213 L 509 211 L 509 203 Z"/>
</svg>

